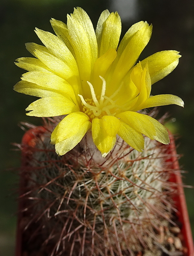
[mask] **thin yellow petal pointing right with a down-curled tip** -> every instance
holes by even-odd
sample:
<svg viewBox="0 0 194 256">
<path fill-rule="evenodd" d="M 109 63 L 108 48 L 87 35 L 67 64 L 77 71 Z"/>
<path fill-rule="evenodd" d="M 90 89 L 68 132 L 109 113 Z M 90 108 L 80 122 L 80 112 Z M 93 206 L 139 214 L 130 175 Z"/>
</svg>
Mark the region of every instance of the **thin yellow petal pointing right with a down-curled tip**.
<svg viewBox="0 0 194 256">
<path fill-rule="evenodd" d="M 133 111 L 138 111 L 143 108 L 151 108 L 151 107 L 165 106 L 165 105 L 171 105 L 171 104 L 176 104 L 178 106 L 184 107 L 184 102 L 180 97 L 172 94 L 160 94 L 160 95 L 150 96 L 144 104 L 139 105 L 139 108 L 133 109 Z"/>
</svg>

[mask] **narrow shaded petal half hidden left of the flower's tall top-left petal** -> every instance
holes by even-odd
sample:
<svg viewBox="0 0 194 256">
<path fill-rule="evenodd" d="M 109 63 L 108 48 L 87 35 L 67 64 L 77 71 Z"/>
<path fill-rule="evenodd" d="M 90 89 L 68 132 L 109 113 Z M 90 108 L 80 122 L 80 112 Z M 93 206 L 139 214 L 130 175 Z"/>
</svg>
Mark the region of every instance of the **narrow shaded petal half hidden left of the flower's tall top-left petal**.
<svg viewBox="0 0 194 256">
<path fill-rule="evenodd" d="M 50 20 L 50 23 L 53 30 L 55 31 L 55 34 L 66 44 L 69 51 L 75 57 L 75 52 L 71 44 L 71 38 L 69 36 L 67 25 L 61 20 L 55 20 L 53 18 Z"/>
</svg>

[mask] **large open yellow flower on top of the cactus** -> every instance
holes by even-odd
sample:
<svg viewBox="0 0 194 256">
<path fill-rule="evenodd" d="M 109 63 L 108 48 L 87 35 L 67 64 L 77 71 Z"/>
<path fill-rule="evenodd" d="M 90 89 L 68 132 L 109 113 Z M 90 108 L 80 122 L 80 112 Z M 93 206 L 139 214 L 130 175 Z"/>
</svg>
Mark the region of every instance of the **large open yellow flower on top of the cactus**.
<svg viewBox="0 0 194 256">
<path fill-rule="evenodd" d="M 51 135 L 57 154 L 74 148 L 87 131 L 92 131 L 103 157 L 115 145 L 116 134 L 138 151 L 144 149 L 142 134 L 168 144 L 165 127 L 137 111 L 169 104 L 183 107 L 177 96 L 150 95 L 151 84 L 177 66 L 178 52 L 157 52 L 136 64 L 152 26 L 134 24 L 119 44 L 121 20 L 108 10 L 101 13 L 96 32 L 79 7 L 67 15 L 67 25 L 55 19 L 51 25 L 56 36 L 35 30 L 45 46 L 26 44 L 35 58 L 17 59 L 17 66 L 29 72 L 14 90 L 41 98 L 26 108 L 29 116 L 66 115 Z"/>
</svg>

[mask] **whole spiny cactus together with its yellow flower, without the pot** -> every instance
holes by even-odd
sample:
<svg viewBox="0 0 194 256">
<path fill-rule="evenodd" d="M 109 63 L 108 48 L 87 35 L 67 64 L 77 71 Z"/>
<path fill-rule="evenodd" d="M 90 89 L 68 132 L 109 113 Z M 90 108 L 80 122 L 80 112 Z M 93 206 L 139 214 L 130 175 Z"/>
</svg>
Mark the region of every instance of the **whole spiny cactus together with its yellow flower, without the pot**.
<svg viewBox="0 0 194 256">
<path fill-rule="evenodd" d="M 41 134 L 34 131 L 31 148 L 23 145 L 21 198 L 31 249 L 52 256 L 153 250 L 173 208 L 161 144 L 169 137 L 142 109 L 183 107 L 177 96 L 151 96 L 151 85 L 174 70 L 180 55 L 157 52 L 136 64 L 152 26 L 134 24 L 119 44 L 117 12 L 102 12 L 96 32 L 81 8 L 67 16 L 67 25 L 51 24 L 56 36 L 36 29 L 45 46 L 26 44 L 35 58 L 16 63 L 29 72 L 14 90 L 41 98 L 27 114 L 59 116 Z"/>
</svg>

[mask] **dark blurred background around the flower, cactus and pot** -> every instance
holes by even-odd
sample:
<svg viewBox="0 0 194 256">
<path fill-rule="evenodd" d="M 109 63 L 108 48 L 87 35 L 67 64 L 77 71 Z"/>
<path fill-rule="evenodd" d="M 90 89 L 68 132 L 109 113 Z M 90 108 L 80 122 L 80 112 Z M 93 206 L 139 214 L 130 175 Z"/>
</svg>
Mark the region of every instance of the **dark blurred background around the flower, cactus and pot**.
<svg viewBox="0 0 194 256">
<path fill-rule="evenodd" d="M 173 117 L 168 127 L 176 134 L 177 151 L 184 183 L 194 186 L 194 1 L 193 0 L 1 0 L 0 1 L 0 255 L 13 256 L 17 214 L 17 167 L 20 152 L 11 143 L 20 143 L 23 131 L 20 121 L 41 124 L 41 119 L 25 115 L 25 108 L 34 101 L 12 90 L 23 70 L 14 65 L 18 57 L 30 56 L 26 42 L 40 44 L 35 32 L 52 32 L 49 19 L 66 22 L 67 13 L 81 6 L 94 26 L 104 9 L 118 11 L 122 18 L 122 35 L 133 24 L 147 20 L 153 24 L 153 35 L 140 60 L 161 50 L 176 49 L 182 58 L 178 67 L 162 81 L 154 84 L 152 94 L 170 93 L 185 101 L 185 108 L 176 105 L 160 108 Z M 185 189 L 191 227 L 194 233 L 194 189 Z"/>
</svg>

